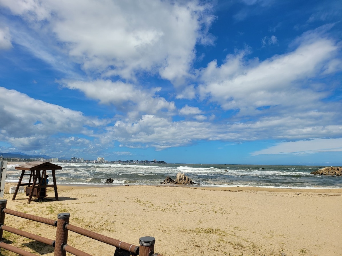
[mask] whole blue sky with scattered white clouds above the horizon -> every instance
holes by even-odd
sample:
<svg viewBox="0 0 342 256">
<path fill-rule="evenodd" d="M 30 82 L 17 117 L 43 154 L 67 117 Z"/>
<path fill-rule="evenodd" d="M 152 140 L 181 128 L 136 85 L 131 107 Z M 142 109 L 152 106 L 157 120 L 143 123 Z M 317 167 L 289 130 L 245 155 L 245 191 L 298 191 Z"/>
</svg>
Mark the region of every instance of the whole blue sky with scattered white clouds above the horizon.
<svg viewBox="0 0 342 256">
<path fill-rule="evenodd" d="M 342 165 L 340 0 L 0 0 L 0 152 Z"/>
</svg>

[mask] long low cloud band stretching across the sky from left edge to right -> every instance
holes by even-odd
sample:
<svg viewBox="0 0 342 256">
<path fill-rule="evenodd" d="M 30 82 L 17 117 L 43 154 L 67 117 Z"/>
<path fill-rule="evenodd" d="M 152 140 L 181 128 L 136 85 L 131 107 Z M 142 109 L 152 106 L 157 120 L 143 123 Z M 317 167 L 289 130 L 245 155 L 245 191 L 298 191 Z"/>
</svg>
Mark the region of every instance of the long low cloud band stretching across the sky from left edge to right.
<svg viewBox="0 0 342 256">
<path fill-rule="evenodd" d="M 298 112 L 282 117 L 263 117 L 255 121 L 215 124 L 197 107 L 185 106 L 184 115 L 193 116 L 192 121 L 172 121 L 172 117 L 153 114 L 142 115 L 137 121 L 117 119 L 115 125 L 108 120 L 86 117 L 81 112 L 35 100 L 15 90 L 0 87 L 0 139 L 14 148 L 42 153 L 64 155 L 82 152 L 98 154 L 99 148 L 120 147 L 168 147 L 185 146 L 196 140 L 251 141 L 258 139 L 305 139 L 340 136 L 341 122 L 330 124 L 337 118 L 334 112 Z M 93 127 L 93 130 L 90 128 Z M 63 134 L 84 134 L 65 136 Z M 56 134 L 60 134 L 55 136 Z M 47 141 L 49 143 L 47 144 Z M 48 146 L 47 146 L 48 145 Z M 48 147 L 48 148 L 47 148 Z"/>
</svg>

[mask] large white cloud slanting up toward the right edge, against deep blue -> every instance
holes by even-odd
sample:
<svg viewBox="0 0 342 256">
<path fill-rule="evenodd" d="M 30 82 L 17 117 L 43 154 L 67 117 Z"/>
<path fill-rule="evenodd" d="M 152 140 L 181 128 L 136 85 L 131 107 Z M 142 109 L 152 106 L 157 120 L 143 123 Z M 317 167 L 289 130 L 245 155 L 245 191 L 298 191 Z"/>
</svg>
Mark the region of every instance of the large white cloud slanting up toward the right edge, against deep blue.
<svg viewBox="0 0 342 256">
<path fill-rule="evenodd" d="M 307 80 L 317 77 L 337 51 L 334 41 L 317 37 L 261 62 L 246 61 L 246 51 L 228 55 L 220 67 L 214 60 L 203 69 L 199 94 L 209 96 L 224 110 L 239 110 L 239 115 L 258 115 L 262 109 L 320 108 L 317 101 L 327 94 L 311 88 Z"/>
</svg>

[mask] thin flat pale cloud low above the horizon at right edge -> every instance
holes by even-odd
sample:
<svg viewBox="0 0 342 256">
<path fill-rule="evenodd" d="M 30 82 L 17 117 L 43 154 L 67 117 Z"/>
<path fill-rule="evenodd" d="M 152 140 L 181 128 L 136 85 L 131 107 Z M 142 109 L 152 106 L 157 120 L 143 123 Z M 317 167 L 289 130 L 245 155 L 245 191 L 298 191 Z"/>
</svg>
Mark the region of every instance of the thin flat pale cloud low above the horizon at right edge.
<svg viewBox="0 0 342 256">
<path fill-rule="evenodd" d="M 253 156 L 263 154 L 283 154 L 283 153 L 316 153 L 342 151 L 342 138 L 338 139 L 311 139 L 293 142 L 281 142 L 275 146 L 255 151 Z"/>
</svg>

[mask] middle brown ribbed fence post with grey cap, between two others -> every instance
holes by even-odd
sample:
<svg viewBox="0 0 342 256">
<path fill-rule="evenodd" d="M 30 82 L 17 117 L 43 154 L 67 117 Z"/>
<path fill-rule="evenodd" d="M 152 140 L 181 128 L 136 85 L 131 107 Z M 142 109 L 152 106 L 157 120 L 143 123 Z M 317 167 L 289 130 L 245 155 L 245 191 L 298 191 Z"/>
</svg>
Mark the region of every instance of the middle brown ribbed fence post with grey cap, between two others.
<svg viewBox="0 0 342 256">
<path fill-rule="evenodd" d="M 57 230 L 54 256 L 65 256 L 66 251 L 63 246 L 68 242 L 68 230 L 65 229 L 65 224 L 69 223 L 70 213 L 57 214 Z"/>
</svg>

